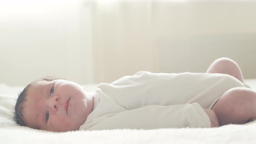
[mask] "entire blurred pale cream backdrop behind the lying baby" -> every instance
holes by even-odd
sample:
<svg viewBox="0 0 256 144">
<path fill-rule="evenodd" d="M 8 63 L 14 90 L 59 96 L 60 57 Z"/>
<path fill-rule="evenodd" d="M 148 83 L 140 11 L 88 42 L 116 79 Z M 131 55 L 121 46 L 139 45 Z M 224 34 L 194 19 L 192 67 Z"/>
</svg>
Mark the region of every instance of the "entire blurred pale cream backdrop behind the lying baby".
<svg viewBox="0 0 256 144">
<path fill-rule="evenodd" d="M 255 55 L 256 0 L 0 0 L 0 83 L 8 85 L 205 72 L 220 57 L 254 79 Z"/>
</svg>

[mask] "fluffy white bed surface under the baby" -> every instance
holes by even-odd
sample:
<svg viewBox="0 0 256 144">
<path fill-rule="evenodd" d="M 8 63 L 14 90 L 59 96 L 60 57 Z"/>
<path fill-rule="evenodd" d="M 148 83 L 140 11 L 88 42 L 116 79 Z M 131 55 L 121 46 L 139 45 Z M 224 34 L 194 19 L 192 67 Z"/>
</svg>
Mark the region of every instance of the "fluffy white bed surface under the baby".
<svg viewBox="0 0 256 144">
<path fill-rule="evenodd" d="M 245 81 L 256 90 L 256 79 Z M 97 84 L 84 85 L 90 93 Z M 23 87 L 0 84 L 0 139 L 1 144 L 256 144 L 256 121 L 243 125 L 225 125 L 219 128 L 168 128 L 155 130 L 69 131 L 55 133 L 20 127 L 12 121 L 17 93 Z"/>
</svg>

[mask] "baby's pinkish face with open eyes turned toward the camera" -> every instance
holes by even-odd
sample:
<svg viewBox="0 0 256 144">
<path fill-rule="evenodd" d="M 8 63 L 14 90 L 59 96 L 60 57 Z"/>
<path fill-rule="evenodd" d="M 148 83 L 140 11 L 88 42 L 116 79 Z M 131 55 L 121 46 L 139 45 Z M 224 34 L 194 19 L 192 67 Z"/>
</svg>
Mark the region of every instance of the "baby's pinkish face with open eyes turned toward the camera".
<svg viewBox="0 0 256 144">
<path fill-rule="evenodd" d="M 40 81 L 27 90 L 24 119 L 30 128 L 75 131 L 92 112 L 93 97 L 75 82 Z"/>
</svg>

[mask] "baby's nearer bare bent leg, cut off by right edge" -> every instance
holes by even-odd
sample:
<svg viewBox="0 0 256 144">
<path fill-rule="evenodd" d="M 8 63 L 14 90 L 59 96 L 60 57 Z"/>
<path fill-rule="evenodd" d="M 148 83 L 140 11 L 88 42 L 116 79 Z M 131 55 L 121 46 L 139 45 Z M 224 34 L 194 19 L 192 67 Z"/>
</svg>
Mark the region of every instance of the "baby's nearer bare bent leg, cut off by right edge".
<svg viewBox="0 0 256 144">
<path fill-rule="evenodd" d="M 256 92 L 249 88 L 232 88 L 213 106 L 219 125 L 244 124 L 256 119 Z"/>
</svg>

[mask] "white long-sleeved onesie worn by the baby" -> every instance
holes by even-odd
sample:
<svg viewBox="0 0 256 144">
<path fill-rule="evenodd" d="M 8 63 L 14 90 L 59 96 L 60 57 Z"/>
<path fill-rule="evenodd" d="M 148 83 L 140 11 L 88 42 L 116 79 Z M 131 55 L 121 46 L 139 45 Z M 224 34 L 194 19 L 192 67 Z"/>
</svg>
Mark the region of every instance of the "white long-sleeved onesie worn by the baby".
<svg viewBox="0 0 256 144">
<path fill-rule="evenodd" d="M 226 74 L 137 72 L 100 84 L 79 130 L 210 128 L 203 108 L 234 87 L 245 86 Z"/>
</svg>

